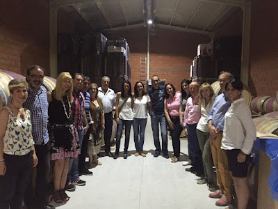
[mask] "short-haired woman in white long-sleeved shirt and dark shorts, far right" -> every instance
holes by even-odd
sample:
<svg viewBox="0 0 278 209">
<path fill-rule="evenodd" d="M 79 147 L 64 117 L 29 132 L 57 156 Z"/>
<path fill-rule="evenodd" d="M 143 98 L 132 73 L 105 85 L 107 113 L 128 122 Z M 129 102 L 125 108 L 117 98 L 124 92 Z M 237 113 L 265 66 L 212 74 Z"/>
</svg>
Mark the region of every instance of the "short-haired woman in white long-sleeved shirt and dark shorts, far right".
<svg viewBox="0 0 278 209">
<path fill-rule="evenodd" d="M 249 199 L 247 171 L 256 128 L 252 121 L 251 111 L 241 98 L 243 83 L 240 80 L 227 82 L 225 91 L 231 100 L 231 107 L 225 114 L 221 148 L 227 150 L 229 171 L 234 180 L 238 208 L 246 208 Z"/>
</svg>

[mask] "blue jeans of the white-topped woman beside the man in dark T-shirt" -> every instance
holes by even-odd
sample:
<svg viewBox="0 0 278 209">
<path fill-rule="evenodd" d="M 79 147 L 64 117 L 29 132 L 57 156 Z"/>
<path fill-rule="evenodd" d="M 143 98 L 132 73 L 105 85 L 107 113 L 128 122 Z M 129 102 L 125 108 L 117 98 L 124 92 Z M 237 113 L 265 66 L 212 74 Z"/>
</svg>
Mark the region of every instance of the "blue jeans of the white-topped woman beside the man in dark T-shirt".
<svg viewBox="0 0 278 209">
<path fill-rule="evenodd" d="M 147 118 L 133 118 L 134 144 L 138 152 L 143 150 L 146 125 Z"/>
</svg>

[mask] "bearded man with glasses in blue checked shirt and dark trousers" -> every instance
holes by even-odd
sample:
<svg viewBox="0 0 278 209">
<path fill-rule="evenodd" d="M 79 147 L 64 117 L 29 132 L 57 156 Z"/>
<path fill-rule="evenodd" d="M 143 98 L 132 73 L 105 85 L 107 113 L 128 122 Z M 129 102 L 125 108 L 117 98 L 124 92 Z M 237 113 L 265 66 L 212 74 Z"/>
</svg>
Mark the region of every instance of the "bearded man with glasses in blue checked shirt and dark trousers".
<svg viewBox="0 0 278 209">
<path fill-rule="evenodd" d="M 46 201 L 47 182 L 50 171 L 49 135 L 47 131 L 48 102 L 47 89 L 42 86 L 44 69 L 38 65 L 27 68 L 26 82 L 28 82 L 28 98 L 23 107 L 31 111 L 32 135 L 35 141 L 35 153 L 38 156 L 35 187 L 33 176 L 26 188 L 24 202 L 28 208 L 53 208 Z"/>
</svg>

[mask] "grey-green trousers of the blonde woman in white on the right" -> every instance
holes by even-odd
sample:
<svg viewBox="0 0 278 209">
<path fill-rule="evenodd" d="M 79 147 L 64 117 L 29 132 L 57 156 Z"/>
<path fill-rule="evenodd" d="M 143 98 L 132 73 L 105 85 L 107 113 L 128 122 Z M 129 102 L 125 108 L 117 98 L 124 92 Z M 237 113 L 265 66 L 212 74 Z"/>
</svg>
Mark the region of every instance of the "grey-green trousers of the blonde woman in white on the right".
<svg viewBox="0 0 278 209">
<path fill-rule="evenodd" d="M 216 184 L 216 176 L 213 173 L 213 158 L 211 155 L 209 132 L 202 132 L 200 130 L 196 130 L 196 132 L 199 141 L 199 147 L 202 151 L 204 173 L 206 174 L 206 179 L 208 180 L 208 183 Z"/>
</svg>

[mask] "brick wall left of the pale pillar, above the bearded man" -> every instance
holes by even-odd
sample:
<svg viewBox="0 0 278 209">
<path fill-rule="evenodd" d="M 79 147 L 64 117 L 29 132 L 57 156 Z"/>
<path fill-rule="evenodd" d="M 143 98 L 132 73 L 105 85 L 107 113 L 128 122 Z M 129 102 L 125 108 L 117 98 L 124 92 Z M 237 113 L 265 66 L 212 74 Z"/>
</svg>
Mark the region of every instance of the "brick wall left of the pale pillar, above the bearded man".
<svg viewBox="0 0 278 209">
<path fill-rule="evenodd" d="M 49 1 L 0 1 L 0 69 L 26 75 L 35 63 L 49 75 Z"/>
</svg>

